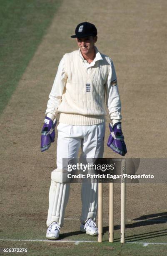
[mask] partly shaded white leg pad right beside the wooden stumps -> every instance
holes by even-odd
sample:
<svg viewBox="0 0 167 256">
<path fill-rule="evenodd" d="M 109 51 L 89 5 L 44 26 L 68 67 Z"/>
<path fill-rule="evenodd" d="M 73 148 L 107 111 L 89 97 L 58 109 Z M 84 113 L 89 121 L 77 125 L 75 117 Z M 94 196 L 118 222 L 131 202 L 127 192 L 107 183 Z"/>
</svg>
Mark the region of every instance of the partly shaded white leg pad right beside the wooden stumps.
<svg viewBox="0 0 167 256">
<path fill-rule="evenodd" d="M 98 195 L 98 184 L 91 183 L 90 180 L 82 182 L 81 188 L 81 200 L 82 200 L 82 215 L 81 223 L 84 224 L 89 218 L 96 221 L 97 215 L 97 195 Z"/>
</svg>

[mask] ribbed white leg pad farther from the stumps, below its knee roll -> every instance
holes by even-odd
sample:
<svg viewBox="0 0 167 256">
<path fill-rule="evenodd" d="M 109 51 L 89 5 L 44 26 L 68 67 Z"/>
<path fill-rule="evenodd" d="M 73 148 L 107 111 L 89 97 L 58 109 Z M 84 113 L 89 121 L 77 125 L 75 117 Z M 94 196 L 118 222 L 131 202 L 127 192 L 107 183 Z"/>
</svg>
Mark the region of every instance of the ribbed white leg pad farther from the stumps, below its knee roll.
<svg viewBox="0 0 167 256">
<path fill-rule="evenodd" d="M 51 175 L 52 177 L 53 175 Z M 49 210 L 47 215 L 47 226 L 56 221 L 60 227 L 64 223 L 65 208 L 70 193 L 70 183 L 57 183 L 51 181 L 49 191 Z"/>
</svg>

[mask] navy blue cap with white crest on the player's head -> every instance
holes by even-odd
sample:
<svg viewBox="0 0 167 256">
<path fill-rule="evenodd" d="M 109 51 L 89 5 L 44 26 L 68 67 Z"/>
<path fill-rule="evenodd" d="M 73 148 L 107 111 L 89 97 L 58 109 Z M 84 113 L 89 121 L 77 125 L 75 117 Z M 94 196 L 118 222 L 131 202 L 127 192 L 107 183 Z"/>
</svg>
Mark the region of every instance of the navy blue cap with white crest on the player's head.
<svg viewBox="0 0 167 256">
<path fill-rule="evenodd" d="M 85 21 L 77 25 L 75 28 L 75 35 L 71 37 L 80 38 L 87 36 L 97 36 L 97 28 L 94 24 Z"/>
</svg>

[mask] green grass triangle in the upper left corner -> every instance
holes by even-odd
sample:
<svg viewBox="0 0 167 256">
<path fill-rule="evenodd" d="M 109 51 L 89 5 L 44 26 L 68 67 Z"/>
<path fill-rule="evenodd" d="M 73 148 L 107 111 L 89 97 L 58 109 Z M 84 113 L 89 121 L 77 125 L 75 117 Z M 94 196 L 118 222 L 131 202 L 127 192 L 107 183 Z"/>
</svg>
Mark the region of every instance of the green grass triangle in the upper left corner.
<svg viewBox="0 0 167 256">
<path fill-rule="evenodd" d="M 0 1 L 0 113 L 60 6 L 60 0 Z"/>
</svg>

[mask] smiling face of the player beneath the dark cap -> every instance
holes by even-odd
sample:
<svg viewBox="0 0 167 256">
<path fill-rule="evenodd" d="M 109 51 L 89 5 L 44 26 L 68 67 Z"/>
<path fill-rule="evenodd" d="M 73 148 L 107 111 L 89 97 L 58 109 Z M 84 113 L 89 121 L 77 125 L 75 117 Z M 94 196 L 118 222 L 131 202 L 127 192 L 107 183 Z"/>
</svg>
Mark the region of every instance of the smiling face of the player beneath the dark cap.
<svg viewBox="0 0 167 256">
<path fill-rule="evenodd" d="M 77 45 L 80 48 L 82 54 L 94 53 L 94 46 L 97 41 L 97 36 L 87 36 L 83 38 L 77 38 Z"/>
</svg>

